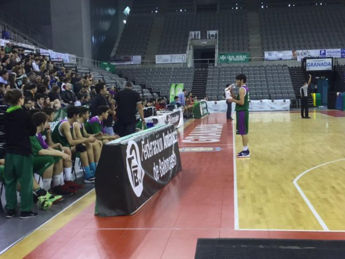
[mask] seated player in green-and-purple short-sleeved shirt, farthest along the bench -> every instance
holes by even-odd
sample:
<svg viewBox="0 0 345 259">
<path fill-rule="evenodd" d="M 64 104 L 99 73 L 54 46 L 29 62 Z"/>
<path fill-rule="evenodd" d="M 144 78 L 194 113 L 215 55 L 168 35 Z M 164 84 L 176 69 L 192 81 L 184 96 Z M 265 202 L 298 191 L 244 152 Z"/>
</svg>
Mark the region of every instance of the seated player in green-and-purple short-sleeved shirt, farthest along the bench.
<svg viewBox="0 0 345 259">
<path fill-rule="evenodd" d="M 118 135 L 110 136 L 104 133 L 103 120 L 108 118 L 109 106 L 101 105 L 97 108 L 97 116 L 92 117 L 88 122 L 84 122 L 85 130 L 89 134 L 99 134 L 97 138 L 103 141 L 103 144 L 108 143 L 111 140 L 119 138 Z"/>
</svg>

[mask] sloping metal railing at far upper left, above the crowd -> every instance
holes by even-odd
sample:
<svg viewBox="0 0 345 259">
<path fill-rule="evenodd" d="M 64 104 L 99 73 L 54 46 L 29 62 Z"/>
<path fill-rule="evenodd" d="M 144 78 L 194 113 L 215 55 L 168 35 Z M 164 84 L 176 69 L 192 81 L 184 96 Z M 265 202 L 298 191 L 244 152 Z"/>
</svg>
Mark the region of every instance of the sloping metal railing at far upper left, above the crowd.
<svg viewBox="0 0 345 259">
<path fill-rule="evenodd" d="M 31 29 L 24 23 L 8 15 L 6 12 L 0 10 L 0 20 L 9 27 L 12 31 L 21 37 L 28 38 L 30 43 L 39 46 L 40 48 L 52 48 L 52 42 L 49 38 L 42 36 L 36 30 Z"/>
</svg>

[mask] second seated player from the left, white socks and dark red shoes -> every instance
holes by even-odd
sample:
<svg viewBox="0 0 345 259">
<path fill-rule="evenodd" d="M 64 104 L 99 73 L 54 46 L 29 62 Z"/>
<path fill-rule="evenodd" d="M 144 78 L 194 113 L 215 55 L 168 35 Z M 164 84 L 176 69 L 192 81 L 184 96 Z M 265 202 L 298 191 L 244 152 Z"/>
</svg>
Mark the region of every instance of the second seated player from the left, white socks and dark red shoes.
<svg viewBox="0 0 345 259">
<path fill-rule="evenodd" d="M 50 107 L 45 107 L 42 109 L 42 111 L 44 113 L 47 114 L 47 118 L 48 118 L 48 122 L 52 122 L 55 118 L 55 110 L 53 108 Z M 43 148 L 47 149 L 48 147 L 50 148 L 58 148 L 59 150 L 62 150 L 63 153 L 68 154 L 69 156 L 72 155 L 71 153 L 71 149 L 68 146 L 62 146 L 60 143 L 54 143 L 51 139 L 51 128 L 50 128 L 50 124 L 47 124 L 47 128 L 45 130 L 44 134 L 46 137 L 46 140 L 43 140 L 42 134 L 38 134 L 38 140 L 40 142 L 40 144 L 42 145 Z M 68 188 L 70 189 L 74 189 L 74 190 L 78 190 L 82 188 L 82 185 L 77 184 L 75 182 L 73 182 L 72 179 L 72 162 L 71 161 L 62 161 L 63 164 L 63 172 L 64 175 L 62 175 L 61 180 L 65 182 L 65 185 L 68 186 Z"/>
</svg>

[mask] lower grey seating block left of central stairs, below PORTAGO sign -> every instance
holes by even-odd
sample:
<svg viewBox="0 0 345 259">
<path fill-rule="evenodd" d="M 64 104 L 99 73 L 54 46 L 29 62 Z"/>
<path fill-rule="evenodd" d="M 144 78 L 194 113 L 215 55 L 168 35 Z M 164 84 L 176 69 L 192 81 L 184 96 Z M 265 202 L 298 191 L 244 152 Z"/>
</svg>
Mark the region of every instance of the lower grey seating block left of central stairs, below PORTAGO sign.
<svg viewBox="0 0 345 259">
<path fill-rule="evenodd" d="M 152 88 L 152 91 L 159 91 L 160 95 L 168 96 L 171 84 L 183 83 L 188 90 L 191 89 L 194 68 L 122 68 L 118 69 L 117 73 L 130 81 L 135 81 L 137 85 L 146 85 L 146 88 Z M 144 96 L 148 95 L 147 90 L 143 89 Z"/>
</svg>

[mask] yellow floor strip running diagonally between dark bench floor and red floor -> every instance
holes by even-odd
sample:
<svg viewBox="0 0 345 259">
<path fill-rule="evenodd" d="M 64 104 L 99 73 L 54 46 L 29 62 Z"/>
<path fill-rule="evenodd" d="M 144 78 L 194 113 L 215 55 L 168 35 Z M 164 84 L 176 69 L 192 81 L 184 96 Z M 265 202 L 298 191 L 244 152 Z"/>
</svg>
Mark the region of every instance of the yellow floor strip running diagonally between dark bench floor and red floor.
<svg viewBox="0 0 345 259">
<path fill-rule="evenodd" d="M 66 210 L 62 211 L 55 218 L 52 218 L 46 224 L 43 224 L 34 230 L 29 236 L 25 237 L 8 251 L 3 253 L 0 258 L 23 258 L 31 251 L 37 248 L 41 243 L 46 241 L 55 232 L 65 226 L 73 218 L 75 218 L 81 211 L 86 209 L 96 199 L 95 189 L 87 193 L 76 203 L 72 204 Z M 29 223 L 29 221 L 28 221 Z"/>
</svg>

